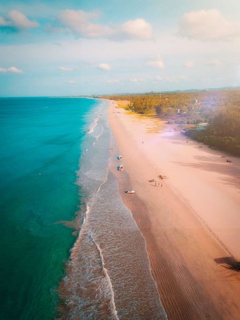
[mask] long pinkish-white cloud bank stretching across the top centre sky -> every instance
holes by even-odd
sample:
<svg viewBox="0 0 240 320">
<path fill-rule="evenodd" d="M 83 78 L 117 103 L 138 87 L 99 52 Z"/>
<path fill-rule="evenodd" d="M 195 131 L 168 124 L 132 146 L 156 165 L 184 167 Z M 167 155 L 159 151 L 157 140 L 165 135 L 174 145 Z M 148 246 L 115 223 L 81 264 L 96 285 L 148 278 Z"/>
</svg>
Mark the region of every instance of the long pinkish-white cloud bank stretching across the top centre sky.
<svg viewBox="0 0 240 320">
<path fill-rule="evenodd" d="M 99 14 L 83 10 L 63 10 L 58 15 L 59 21 L 68 30 L 83 38 L 106 38 L 111 40 L 121 39 L 151 39 L 152 26 L 144 19 L 128 20 L 121 25 L 102 25 L 93 23 Z"/>
</svg>

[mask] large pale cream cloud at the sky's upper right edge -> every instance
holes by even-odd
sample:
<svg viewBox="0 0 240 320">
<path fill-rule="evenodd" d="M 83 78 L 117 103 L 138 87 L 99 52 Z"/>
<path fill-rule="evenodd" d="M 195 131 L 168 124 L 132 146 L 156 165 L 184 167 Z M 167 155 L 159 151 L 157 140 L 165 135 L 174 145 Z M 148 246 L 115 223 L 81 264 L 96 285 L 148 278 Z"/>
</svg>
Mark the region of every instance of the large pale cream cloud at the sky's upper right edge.
<svg viewBox="0 0 240 320">
<path fill-rule="evenodd" d="M 217 9 L 191 11 L 183 15 L 179 33 L 201 41 L 226 41 L 240 35 L 240 21 L 227 20 Z"/>
</svg>

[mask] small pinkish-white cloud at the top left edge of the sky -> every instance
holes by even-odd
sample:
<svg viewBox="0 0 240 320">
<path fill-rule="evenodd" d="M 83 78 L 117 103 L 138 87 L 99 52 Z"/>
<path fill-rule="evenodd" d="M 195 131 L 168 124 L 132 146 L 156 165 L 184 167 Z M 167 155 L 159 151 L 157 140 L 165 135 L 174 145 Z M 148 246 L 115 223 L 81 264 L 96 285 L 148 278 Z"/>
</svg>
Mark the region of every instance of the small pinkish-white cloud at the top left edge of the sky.
<svg viewBox="0 0 240 320">
<path fill-rule="evenodd" d="M 5 18 L 0 17 L 0 26 L 14 27 L 18 30 L 36 28 L 39 23 L 30 21 L 23 13 L 18 10 L 11 10 Z"/>
</svg>

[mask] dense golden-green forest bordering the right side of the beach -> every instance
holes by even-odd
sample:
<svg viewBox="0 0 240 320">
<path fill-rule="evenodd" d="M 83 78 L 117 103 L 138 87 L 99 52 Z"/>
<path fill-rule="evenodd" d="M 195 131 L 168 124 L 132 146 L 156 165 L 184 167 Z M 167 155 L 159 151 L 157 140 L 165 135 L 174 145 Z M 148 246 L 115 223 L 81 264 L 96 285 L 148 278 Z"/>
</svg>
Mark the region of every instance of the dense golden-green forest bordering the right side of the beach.
<svg viewBox="0 0 240 320">
<path fill-rule="evenodd" d="M 240 156 L 239 89 L 102 97 L 118 100 L 120 105 L 129 101 L 127 110 L 159 116 L 193 139 Z M 208 125 L 199 130 L 202 122 Z"/>
</svg>

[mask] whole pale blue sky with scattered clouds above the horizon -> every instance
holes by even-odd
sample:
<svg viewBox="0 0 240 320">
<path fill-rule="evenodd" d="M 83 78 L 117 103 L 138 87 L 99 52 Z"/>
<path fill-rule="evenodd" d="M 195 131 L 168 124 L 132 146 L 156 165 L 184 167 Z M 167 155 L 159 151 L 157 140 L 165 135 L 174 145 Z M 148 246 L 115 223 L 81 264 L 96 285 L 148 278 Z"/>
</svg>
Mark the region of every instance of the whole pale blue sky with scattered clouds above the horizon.
<svg viewBox="0 0 240 320">
<path fill-rule="evenodd" d="M 0 96 L 240 86 L 239 0 L 0 1 Z"/>
</svg>

